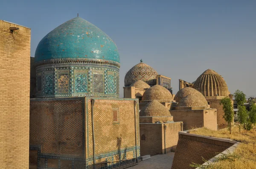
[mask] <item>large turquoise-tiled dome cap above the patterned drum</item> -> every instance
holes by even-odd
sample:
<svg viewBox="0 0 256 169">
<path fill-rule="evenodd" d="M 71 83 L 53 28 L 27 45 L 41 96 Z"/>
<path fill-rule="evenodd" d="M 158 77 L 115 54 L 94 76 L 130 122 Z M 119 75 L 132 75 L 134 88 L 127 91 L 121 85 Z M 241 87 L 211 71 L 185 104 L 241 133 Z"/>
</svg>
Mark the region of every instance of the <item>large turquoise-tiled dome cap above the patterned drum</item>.
<svg viewBox="0 0 256 169">
<path fill-rule="evenodd" d="M 113 40 L 81 17 L 73 18 L 52 30 L 39 42 L 35 51 L 35 62 L 62 58 L 119 63 L 119 53 Z"/>
</svg>

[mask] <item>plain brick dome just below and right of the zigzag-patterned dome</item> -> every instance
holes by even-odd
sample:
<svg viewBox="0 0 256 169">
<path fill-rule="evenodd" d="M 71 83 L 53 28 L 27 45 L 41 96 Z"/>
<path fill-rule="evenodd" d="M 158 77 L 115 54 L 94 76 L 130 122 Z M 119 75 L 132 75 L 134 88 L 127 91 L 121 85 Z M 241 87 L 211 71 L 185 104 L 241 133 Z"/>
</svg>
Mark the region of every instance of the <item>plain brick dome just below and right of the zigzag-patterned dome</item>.
<svg viewBox="0 0 256 169">
<path fill-rule="evenodd" d="M 172 101 L 172 94 L 169 90 L 160 85 L 150 87 L 142 96 L 142 100 L 169 100 Z"/>
</svg>

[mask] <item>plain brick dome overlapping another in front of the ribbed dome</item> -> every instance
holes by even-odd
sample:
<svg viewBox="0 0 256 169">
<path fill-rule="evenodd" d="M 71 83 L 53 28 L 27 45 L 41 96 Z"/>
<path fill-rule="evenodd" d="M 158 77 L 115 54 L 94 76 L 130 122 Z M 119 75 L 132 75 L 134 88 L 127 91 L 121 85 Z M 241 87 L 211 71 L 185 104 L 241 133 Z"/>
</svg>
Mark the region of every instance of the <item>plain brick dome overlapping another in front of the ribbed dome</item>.
<svg viewBox="0 0 256 169">
<path fill-rule="evenodd" d="M 189 94 L 188 96 L 181 99 L 177 106 L 178 107 L 208 107 L 208 103 L 204 98 L 204 96 L 196 97 L 196 96 L 193 96 L 192 94 Z"/>
</svg>

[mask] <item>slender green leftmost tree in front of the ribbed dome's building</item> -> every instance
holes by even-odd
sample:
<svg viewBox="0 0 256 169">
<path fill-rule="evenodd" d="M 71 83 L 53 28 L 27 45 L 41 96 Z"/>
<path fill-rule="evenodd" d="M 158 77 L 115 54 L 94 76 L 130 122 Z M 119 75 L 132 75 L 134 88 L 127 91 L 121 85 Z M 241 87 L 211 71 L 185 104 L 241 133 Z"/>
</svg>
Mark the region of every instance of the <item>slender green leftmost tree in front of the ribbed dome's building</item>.
<svg viewBox="0 0 256 169">
<path fill-rule="evenodd" d="M 222 109 L 224 111 L 223 118 L 225 119 L 225 121 L 227 121 L 228 129 L 230 130 L 230 134 L 232 134 L 231 125 L 232 122 L 234 121 L 233 105 L 229 97 L 221 99 L 220 104 L 222 104 Z"/>
</svg>

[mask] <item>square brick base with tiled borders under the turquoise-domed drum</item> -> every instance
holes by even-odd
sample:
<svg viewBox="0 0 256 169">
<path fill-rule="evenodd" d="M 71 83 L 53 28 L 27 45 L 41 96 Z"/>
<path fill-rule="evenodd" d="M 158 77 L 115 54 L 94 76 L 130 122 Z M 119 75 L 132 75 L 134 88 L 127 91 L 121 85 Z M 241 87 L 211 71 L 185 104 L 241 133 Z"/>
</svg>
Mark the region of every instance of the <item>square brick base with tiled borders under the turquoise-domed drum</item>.
<svg viewBox="0 0 256 169">
<path fill-rule="evenodd" d="M 90 169 L 93 149 L 96 163 L 140 157 L 135 99 L 31 99 L 30 110 L 31 168 Z"/>
</svg>

